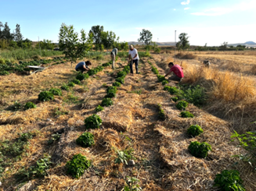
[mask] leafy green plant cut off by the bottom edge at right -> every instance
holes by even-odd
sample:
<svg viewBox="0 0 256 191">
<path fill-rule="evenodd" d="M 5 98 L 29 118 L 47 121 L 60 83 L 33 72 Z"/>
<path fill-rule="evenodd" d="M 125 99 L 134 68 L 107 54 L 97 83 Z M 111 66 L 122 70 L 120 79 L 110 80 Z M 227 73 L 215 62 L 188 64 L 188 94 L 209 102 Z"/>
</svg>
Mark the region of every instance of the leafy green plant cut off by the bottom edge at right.
<svg viewBox="0 0 256 191">
<path fill-rule="evenodd" d="M 245 191 L 240 173 L 236 170 L 224 170 L 216 175 L 214 186 L 223 191 Z"/>
</svg>

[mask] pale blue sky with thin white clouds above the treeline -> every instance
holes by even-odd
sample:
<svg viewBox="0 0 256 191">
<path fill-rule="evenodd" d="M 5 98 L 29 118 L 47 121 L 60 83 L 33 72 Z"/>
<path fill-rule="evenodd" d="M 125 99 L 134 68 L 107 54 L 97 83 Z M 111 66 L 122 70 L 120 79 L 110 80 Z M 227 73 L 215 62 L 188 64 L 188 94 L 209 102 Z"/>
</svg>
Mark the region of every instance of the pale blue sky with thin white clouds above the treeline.
<svg viewBox="0 0 256 191">
<path fill-rule="evenodd" d="M 174 42 L 186 33 L 191 45 L 256 42 L 256 0 L 0 0 L 0 22 L 31 41 L 59 40 L 62 23 L 80 33 L 100 25 L 120 41 L 137 41 L 142 29 L 153 41 Z"/>
</svg>

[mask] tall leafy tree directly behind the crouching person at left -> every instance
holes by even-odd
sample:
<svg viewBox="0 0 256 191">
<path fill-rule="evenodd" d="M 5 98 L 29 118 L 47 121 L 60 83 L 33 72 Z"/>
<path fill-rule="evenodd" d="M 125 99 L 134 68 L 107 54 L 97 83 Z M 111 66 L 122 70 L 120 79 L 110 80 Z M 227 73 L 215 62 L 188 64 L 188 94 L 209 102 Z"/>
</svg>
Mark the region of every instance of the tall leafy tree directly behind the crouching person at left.
<svg viewBox="0 0 256 191">
<path fill-rule="evenodd" d="M 92 41 L 92 34 L 87 37 L 83 29 L 79 39 L 73 25 L 68 27 L 62 23 L 59 29 L 59 49 L 70 59 L 71 67 L 73 62 L 76 62 L 78 58 L 84 58 L 86 51 L 92 49 Z"/>
</svg>

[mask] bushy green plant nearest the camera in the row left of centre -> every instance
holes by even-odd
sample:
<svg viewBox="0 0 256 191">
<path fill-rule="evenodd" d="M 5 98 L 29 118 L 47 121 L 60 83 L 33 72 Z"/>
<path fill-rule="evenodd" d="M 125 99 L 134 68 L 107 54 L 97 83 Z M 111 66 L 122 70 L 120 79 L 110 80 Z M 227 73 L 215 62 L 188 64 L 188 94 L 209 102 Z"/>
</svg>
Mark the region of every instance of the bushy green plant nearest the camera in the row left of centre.
<svg viewBox="0 0 256 191">
<path fill-rule="evenodd" d="M 67 174 L 79 179 L 85 173 L 85 170 L 91 166 L 91 161 L 88 161 L 85 156 L 75 154 L 71 161 L 67 161 Z"/>
</svg>

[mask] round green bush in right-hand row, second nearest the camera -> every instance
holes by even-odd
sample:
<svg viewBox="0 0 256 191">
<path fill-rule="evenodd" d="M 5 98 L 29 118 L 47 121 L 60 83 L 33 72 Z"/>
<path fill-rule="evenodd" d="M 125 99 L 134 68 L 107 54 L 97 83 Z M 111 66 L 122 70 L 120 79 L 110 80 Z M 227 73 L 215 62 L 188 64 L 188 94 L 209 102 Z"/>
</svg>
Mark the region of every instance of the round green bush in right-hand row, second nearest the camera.
<svg viewBox="0 0 256 191">
<path fill-rule="evenodd" d="M 199 143 L 197 141 L 189 144 L 189 152 L 194 157 L 207 157 L 208 151 L 211 150 L 211 145 L 205 142 Z"/>
</svg>

